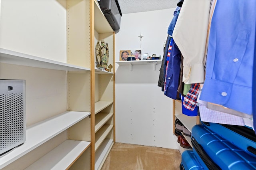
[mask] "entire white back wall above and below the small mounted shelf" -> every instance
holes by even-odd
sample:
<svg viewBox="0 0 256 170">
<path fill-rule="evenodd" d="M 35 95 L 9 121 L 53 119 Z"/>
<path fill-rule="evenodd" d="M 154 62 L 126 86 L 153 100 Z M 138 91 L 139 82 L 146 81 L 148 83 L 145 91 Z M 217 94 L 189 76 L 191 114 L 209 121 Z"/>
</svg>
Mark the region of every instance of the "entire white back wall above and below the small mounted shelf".
<svg viewBox="0 0 256 170">
<path fill-rule="evenodd" d="M 174 10 L 124 14 L 116 34 L 116 61 L 120 50 L 163 56 Z M 116 64 L 116 142 L 178 149 L 172 134 L 172 99 L 157 86 L 160 67 L 134 65 L 130 71 L 129 65 Z"/>
</svg>

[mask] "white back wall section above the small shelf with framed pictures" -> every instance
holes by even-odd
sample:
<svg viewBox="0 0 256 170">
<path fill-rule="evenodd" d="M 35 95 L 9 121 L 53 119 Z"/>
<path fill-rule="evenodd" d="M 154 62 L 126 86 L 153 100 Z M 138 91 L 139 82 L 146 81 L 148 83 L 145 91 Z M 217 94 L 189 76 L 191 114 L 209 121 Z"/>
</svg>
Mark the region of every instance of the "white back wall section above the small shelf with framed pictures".
<svg viewBox="0 0 256 170">
<path fill-rule="evenodd" d="M 142 53 L 163 56 L 167 29 L 175 9 L 123 14 L 120 32 L 116 34 L 116 61 L 120 50 L 142 49 Z M 143 36 L 140 41 L 140 34 Z"/>
</svg>

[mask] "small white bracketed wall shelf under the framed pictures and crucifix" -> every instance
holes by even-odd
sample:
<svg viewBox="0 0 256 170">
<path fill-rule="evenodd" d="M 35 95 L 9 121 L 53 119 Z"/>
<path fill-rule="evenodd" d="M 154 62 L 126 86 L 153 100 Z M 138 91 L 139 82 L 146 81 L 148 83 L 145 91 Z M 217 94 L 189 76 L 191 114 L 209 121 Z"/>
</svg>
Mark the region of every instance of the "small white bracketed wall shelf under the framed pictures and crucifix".
<svg viewBox="0 0 256 170">
<path fill-rule="evenodd" d="M 157 64 L 162 64 L 161 59 L 152 59 L 152 60 L 140 60 L 140 61 L 116 61 L 118 65 L 130 65 L 130 71 L 132 71 L 132 65 L 153 65 L 153 69 L 156 70 Z"/>
</svg>

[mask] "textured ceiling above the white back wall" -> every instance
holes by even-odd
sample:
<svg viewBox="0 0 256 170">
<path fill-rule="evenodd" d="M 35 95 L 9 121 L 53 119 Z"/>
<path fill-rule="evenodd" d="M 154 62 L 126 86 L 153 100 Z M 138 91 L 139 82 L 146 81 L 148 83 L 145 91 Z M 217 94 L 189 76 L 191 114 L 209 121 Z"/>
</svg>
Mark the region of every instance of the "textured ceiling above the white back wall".
<svg viewBox="0 0 256 170">
<path fill-rule="evenodd" d="M 118 0 L 122 14 L 176 8 L 179 0 Z"/>
</svg>

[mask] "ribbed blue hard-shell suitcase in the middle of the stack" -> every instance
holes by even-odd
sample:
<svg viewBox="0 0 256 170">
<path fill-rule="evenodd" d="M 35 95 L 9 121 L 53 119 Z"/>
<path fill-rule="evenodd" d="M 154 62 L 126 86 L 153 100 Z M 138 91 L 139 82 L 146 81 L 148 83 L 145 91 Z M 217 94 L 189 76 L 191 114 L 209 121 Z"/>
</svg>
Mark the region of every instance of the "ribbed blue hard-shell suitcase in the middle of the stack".
<svg viewBox="0 0 256 170">
<path fill-rule="evenodd" d="M 230 140 L 233 141 L 234 139 L 232 139 Z M 209 169 L 256 169 L 256 158 L 232 144 L 230 140 L 222 138 L 205 125 L 195 125 L 192 128 L 191 142 L 193 149 L 206 162 Z M 214 167 L 210 165 L 212 162 L 215 164 Z"/>
</svg>

